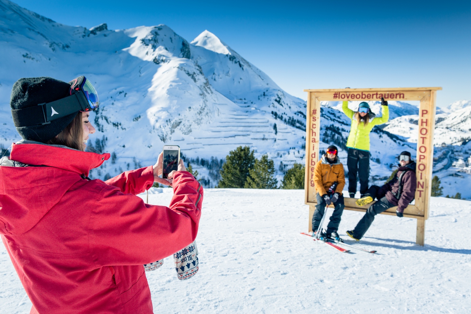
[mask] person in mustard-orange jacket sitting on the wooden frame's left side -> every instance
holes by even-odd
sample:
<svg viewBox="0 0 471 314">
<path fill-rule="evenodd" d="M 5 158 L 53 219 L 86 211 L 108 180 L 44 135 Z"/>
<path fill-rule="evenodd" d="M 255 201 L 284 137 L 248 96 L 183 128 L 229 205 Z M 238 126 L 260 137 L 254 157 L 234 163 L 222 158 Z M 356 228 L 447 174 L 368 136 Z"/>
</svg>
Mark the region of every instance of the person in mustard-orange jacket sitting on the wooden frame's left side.
<svg viewBox="0 0 471 314">
<path fill-rule="evenodd" d="M 321 160 L 317 161 L 314 168 L 314 185 L 317 191 L 317 205 L 314 216 L 312 216 L 313 234 L 315 234 L 319 227 L 325 207 L 333 203 L 335 208 L 327 225 L 326 236 L 341 241 L 337 230 L 339 229 L 340 219 L 345 207 L 342 195 L 342 190 L 345 186 L 345 174 L 343 172 L 343 165 L 339 161 L 336 146 L 330 145 Z"/>
</svg>

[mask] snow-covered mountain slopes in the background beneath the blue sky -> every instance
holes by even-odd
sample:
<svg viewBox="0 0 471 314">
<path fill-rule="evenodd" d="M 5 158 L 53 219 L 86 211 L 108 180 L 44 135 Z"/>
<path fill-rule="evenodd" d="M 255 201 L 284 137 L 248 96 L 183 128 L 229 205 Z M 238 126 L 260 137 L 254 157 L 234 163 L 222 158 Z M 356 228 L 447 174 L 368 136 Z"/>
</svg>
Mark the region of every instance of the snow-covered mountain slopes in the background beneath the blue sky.
<svg viewBox="0 0 471 314">
<path fill-rule="evenodd" d="M 70 81 L 85 75 L 101 101 L 92 114 L 97 133 L 89 146 L 113 156 L 91 171 L 92 178 L 154 164 L 163 145 L 179 145 L 185 156 L 208 161 L 248 145 L 257 157 L 268 153 L 279 180 L 294 162 L 304 163 L 306 102 L 284 92 L 207 30 L 188 42 L 163 24 L 127 30 L 108 30 L 106 24 L 73 27 L 0 0 L 0 54 L 0 148 L 19 139 L 8 105 L 18 78 Z M 356 109 L 358 103 L 349 106 Z M 322 105 L 321 150 L 337 145 L 346 165 L 350 121 L 341 102 Z M 380 113 L 379 102 L 370 105 Z M 372 183 L 384 183 L 398 153 L 415 154 L 416 105 L 391 101 L 390 122 L 372 132 Z M 434 171 L 446 183 L 445 195 L 461 192 L 471 198 L 471 150 L 465 147 L 470 105 L 457 101 L 437 112 Z M 219 168 L 193 167 L 205 187 L 217 184 Z"/>
</svg>

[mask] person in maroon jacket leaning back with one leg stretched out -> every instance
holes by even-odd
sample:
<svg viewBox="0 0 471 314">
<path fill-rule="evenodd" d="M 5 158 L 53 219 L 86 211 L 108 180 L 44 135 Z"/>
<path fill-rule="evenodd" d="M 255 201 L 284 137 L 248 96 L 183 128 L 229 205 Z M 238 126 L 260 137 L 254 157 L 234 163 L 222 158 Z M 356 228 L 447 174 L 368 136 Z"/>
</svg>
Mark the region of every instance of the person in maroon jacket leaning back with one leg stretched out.
<svg viewBox="0 0 471 314">
<path fill-rule="evenodd" d="M 374 216 L 386 209 L 397 206 L 396 215 L 403 217 L 404 209 L 414 200 L 415 189 L 417 187 L 415 162 L 412 161 L 409 152 L 400 153 L 398 160 L 399 168 L 392 180 L 381 187 L 372 185 L 366 192 L 365 198 L 369 196 L 371 201 L 374 198 L 377 198 L 378 201 L 366 210 L 365 216 L 361 218 L 355 229 L 347 231 L 351 238 L 359 241 L 373 223 Z"/>
</svg>

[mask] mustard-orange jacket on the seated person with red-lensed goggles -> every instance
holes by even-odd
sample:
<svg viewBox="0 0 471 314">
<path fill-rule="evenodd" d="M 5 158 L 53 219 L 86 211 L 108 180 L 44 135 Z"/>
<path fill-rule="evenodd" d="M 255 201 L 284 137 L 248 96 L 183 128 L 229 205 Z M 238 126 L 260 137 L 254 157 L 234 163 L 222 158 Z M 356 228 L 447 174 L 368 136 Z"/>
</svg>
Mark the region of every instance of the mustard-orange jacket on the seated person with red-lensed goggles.
<svg viewBox="0 0 471 314">
<path fill-rule="evenodd" d="M 345 173 L 343 172 L 343 165 L 337 157 L 337 161 L 329 163 L 325 155 L 322 156 L 320 161 L 316 162 L 314 167 L 314 185 L 319 195 L 327 193 L 329 187 L 337 182 L 335 192 L 342 193 L 345 186 Z"/>
</svg>

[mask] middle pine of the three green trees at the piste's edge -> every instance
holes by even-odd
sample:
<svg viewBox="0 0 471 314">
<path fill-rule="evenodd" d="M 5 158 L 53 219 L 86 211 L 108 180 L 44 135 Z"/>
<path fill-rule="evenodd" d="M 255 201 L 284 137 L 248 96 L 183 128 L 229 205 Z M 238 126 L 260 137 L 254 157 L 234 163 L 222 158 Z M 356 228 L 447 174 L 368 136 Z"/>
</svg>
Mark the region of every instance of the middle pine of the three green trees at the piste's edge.
<svg viewBox="0 0 471 314">
<path fill-rule="evenodd" d="M 244 187 L 249 189 L 276 189 L 278 180 L 273 176 L 275 165 L 268 155 L 262 155 L 260 160 L 256 159 L 253 169 L 249 169 L 249 176 Z"/>
</svg>

